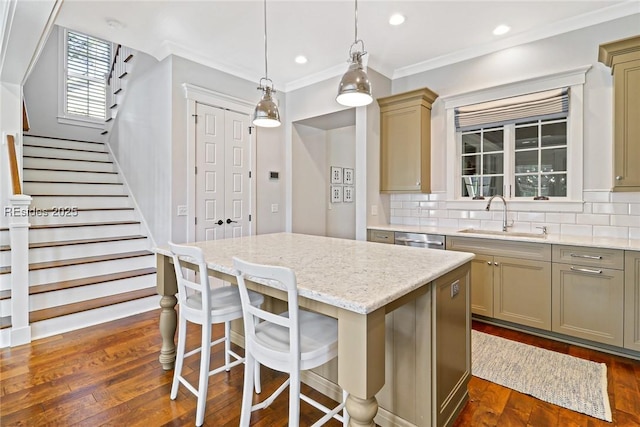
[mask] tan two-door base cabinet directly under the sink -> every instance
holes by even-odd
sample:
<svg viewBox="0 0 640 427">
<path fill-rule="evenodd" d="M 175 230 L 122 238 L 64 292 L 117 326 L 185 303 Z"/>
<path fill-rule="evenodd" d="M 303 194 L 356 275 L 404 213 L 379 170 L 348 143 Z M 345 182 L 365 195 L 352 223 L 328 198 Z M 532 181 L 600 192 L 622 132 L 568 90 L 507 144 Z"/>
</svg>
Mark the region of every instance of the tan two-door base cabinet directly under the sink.
<svg viewBox="0 0 640 427">
<path fill-rule="evenodd" d="M 447 249 L 473 252 L 474 314 L 551 330 L 551 245 L 449 237 Z"/>
</svg>

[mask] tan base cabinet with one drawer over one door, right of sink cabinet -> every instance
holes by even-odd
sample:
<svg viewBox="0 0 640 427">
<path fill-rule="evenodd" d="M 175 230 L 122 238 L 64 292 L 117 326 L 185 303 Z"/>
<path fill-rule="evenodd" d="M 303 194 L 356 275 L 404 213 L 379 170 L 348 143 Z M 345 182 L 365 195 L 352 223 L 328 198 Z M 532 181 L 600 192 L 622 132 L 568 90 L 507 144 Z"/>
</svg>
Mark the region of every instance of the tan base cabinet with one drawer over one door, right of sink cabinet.
<svg viewBox="0 0 640 427">
<path fill-rule="evenodd" d="M 623 251 L 554 245 L 553 260 L 553 332 L 622 347 Z"/>
</svg>

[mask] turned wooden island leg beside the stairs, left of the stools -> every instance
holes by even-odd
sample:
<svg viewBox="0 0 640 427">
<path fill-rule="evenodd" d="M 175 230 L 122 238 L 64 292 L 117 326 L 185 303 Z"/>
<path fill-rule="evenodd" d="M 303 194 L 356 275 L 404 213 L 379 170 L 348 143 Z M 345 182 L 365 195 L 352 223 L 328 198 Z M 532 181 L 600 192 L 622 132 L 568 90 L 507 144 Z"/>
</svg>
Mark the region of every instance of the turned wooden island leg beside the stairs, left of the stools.
<svg viewBox="0 0 640 427">
<path fill-rule="evenodd" d="M 176 313 L 176 293 L 178 285 L 173 264 L 169 262 L 169 257 L 156 255 L 156 289 L 160 298 L 160 335 L 162 336 L 162 347 L 158 360 L 165 371 L 173 369 L 176 360 L 176 344 L 174 337 L 178 315 Z"/>
</svg>

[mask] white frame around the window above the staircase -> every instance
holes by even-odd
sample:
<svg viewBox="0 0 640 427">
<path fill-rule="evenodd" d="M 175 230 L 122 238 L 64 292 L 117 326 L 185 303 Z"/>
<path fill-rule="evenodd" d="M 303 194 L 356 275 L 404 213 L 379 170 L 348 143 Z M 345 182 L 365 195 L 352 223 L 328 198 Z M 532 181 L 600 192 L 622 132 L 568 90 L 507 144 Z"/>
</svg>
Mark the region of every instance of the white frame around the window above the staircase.
<svg viewBox="0 0 640 427">
<path fill-rule="evenodd" d="M 74 125 L 74 126 L 82 126 L 94 129 L 104 128 L 105 120 L 107 118 L 107 109 L 109 106 L 107 105 L 108 99 L 105 99 L 105 117 L 104 118 L 94 118 L 89 116 L 81 116 L 76 114 L 68 114 L 66 111 L 67 105 L 67 39 L 69 32 L 74 32 L 78 34 L 85 34 L 80 31 L 73 31 L 67 28 L 60 28 L 58 32 L 58 45 L 60 55 L 58 55 L 58 123 L 66 124 L 66 125 Z M 86 34 L 91 36 L 90 34 Z M 91 36 L 94 37 L 94 36 Z M 98 37 L 96 37 L 98 38 Z M 105 42 L 109 43 L 107 40 Z M 113 48 L 114 44 L 111 44 L 111 52 L 110 56 L 113 59 Z"/>
</svg>

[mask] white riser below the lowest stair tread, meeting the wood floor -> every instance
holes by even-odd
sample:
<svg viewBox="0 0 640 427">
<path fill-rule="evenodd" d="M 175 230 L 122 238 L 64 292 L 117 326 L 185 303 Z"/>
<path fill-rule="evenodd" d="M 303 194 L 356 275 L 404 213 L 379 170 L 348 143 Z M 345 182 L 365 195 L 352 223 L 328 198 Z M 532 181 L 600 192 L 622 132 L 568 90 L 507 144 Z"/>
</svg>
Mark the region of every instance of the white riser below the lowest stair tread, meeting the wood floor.
<svg viewBox="0 0 640 427">
<path fill-rule="evenodd" d="M 109 307 L 102 307 L 95 310 L 84 311 L 71 314 L 69 316 L 56 317 L 54 319 L 36 322 L 31 325 L 31 338 L 36 340 L 62 334 L 64 332 L 75 331 L 87 326 L 98 325 L 134 314 L 144 313 L 160 307 L 160 297 L 152 296 L 116 304 Z M 160 345 L 158 345 L 158 351 Z"/>
</svg>

